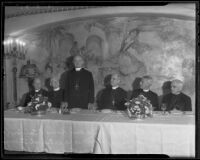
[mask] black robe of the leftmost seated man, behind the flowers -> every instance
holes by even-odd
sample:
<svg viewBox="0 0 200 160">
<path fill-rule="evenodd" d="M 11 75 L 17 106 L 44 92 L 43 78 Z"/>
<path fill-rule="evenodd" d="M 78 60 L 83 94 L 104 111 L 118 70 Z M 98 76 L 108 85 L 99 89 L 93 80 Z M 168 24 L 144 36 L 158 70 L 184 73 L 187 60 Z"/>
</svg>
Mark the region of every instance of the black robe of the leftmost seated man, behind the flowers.
<svg viewBox="0 0 200 160">
<path fill-rule="evenodd" d="M 42 96 L 44 96 L 44 97 L 48 97 L 48 92 L 46 91 L 46 90 L 44 90 L 44 89 L 40 89 L 38 92 L 36 92 L 35 90 L 32 90 L 32 91 L 30 91 L 30 92 L 28 92 L 27 94 L 26 94 L 26 98 L 25 98 L 25 102 L 24 102 L 24 107 L 26 107 L 27 106 L 27 104 L 29 103 L 29 102 L 31 102 L 31 99 L 32 99 L 32 97 L 34 96 L 34 95 L 39 95 L 39 94 L 41 94 Z"/>
</svg>

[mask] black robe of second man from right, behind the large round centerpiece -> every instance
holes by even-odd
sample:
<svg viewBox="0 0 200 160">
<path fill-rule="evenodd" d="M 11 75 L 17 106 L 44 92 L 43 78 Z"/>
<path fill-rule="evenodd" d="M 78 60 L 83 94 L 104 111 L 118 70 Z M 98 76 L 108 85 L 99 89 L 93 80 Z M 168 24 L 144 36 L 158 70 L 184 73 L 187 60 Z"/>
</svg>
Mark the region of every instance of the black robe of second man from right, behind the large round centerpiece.
<svg viewBox="0 0 200 160">
<path fill-rule="evenodd" d="M 156 93 L 154 93 L 150 90 L 145 92 L 145 91 L 143 91 L 143 89 L 136 89 L 136 90 L 133 90 L 131 99 L 137 98 L 139 95 L 145 96 L 150 101 L 152 106 L 154 107 L 154 110 L 160 110 L 159 104 L 158 104 L 158 95 Z"/>
</svg>

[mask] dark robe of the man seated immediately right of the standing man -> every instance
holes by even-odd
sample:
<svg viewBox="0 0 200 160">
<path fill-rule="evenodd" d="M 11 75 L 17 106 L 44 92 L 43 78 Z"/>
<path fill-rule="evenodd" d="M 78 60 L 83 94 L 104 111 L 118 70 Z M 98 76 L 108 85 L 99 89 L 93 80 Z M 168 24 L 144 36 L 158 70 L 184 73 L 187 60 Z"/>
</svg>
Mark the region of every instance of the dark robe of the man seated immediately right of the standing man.
<svg viewBox="0 0 200 160">
<path fill-rule="evenodd" d="M 125 110 L 126 98 L 126 91 L 120 87 L 115 90 L 112 87 L 105 88 L 97 101 L 98 109 Z"/>
</svg>

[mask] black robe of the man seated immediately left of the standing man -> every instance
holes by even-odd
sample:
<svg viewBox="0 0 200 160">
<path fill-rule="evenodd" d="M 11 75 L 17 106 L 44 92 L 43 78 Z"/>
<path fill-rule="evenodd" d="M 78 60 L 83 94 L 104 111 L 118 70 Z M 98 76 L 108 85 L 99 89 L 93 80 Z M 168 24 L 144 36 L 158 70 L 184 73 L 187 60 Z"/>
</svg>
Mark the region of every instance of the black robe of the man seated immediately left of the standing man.
<svg viewBox="0 0 200 160">
<path fill-rule="evenodd" d="M 64 90 L 50 91 L 48 93 L 48 100 L 52 103 L 52 107 L 60 108 L 61 102 L 64 100 Z"/>
</svg>

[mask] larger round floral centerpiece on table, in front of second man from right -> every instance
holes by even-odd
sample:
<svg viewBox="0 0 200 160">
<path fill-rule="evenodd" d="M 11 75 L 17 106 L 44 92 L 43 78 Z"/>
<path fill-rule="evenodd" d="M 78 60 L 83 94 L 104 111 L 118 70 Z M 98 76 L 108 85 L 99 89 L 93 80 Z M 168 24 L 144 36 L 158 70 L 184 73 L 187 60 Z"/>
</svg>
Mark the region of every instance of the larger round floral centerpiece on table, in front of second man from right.
<svg viewBox="0 0 200 160">
<path fill-rule="evenodd" d="M 128 116 L 134 119 L 141 119 L 153 116 L 153 107 L 150 101 L 143 95 L 125 103 Z"/>
</svg>

